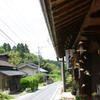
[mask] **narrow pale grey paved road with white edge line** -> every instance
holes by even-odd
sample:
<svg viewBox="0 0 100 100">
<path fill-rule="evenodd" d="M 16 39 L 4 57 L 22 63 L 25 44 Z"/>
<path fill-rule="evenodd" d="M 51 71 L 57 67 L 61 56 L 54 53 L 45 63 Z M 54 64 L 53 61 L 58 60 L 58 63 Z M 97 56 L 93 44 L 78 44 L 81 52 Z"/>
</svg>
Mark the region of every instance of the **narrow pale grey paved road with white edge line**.
<svg viewBox="0 0 100 100">
<path fill-rule="evenodd" d="M 60 89 L 61 82 L 56 82 L 43 87 L 42 89 L 20 96 L 16 100 L 54 100 L 55 95 Z"/>
</svg>

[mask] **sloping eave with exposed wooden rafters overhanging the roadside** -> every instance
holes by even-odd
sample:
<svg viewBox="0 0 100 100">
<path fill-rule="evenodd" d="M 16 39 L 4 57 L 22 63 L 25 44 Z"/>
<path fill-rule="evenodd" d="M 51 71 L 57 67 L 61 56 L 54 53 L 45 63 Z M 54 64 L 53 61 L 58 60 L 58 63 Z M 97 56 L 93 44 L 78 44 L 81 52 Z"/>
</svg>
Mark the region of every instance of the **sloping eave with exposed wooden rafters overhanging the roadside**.
<svg viewBox="0 0 100 100">
<path fill-rule="evenodd" d="M 58 57 L 73 48 L 92 0 L 40 0 Z M 48 20 L 48 22 L 47 22 Z"/>
</svg>

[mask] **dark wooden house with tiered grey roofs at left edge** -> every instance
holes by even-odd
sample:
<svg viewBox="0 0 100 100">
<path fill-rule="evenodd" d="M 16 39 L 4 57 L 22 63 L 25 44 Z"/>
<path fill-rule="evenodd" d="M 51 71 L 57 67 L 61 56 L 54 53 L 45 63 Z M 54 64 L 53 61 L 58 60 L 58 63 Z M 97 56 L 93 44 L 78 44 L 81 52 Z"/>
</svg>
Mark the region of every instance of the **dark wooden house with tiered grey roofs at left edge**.
<svg viewBox="0 0 100 100">
<path fill-rule="evenodd" d="M 0 89 L 10 90 L 10 92 L 20 89 L 20 79 L 26 73 L 14 69 L 14 65 L 8 62 L 7 54 L 0 54 Z"/>
</svg>

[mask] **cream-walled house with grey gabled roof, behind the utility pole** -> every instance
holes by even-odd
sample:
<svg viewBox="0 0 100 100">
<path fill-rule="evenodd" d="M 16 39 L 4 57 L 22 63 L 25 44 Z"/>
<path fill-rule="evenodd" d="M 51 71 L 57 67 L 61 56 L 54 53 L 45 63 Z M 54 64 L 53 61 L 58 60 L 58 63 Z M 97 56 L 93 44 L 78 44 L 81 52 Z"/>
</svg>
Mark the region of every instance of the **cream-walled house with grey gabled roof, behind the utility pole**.
<svg viewBox="0 0 100 100">
<path fill-rule="evenodd" d="M 26 62 L 26 63 L 20 64 L 18 66 L 18 69 L 20 71 L 27 73 L 27 75 L 30 76 L 30 75 L 34 75 L 38 72 L 38 65 L 30 63 L 30 62 Z M 40 68 L 40 72 L 46 73 L 48 71 Z"/>
</svg>

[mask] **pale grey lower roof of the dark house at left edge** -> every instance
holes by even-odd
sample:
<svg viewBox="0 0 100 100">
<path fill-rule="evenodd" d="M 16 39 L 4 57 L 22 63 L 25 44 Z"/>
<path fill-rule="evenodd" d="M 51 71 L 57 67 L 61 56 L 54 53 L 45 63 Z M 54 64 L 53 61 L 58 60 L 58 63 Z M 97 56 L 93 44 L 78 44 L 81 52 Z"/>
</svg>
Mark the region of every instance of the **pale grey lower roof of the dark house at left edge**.
<svg viewBox="0 0 100 100">
<path fill-rule="evenodd" d="M 7 75 L 7 76 L 22 76 L 26 75 L 25 72 L 18 71 L 18 70 L 0 70 L 0 73 Z"/>
</svg>

